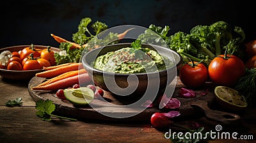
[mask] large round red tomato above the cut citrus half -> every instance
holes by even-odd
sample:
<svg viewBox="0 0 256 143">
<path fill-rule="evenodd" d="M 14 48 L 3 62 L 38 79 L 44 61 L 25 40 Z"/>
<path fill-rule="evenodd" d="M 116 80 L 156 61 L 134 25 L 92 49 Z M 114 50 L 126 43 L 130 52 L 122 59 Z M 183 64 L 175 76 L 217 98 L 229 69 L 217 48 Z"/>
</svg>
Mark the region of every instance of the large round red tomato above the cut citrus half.
<svg viewBox="0 0 256 143">
<path fill-rule="evenodd" d="M 208 68 L 212 82 L 221 86 L 233 86 L 245 73 L 243 61 L 236 56 L 215 57 Z"/>
</svg>

